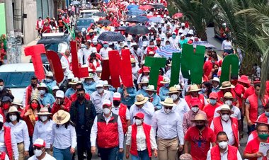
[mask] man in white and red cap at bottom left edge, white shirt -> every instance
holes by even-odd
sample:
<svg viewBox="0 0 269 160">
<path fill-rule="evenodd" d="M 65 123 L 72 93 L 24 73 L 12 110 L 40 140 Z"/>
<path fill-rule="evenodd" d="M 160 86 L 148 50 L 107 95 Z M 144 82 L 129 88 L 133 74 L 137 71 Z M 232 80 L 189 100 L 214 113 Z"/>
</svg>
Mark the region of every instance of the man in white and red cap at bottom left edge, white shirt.
<svg viewBox="0 0 269 160">
<path fill-rule="evenodd" d="M 45 147 L 46 143 L 43 139 L 36 139 L 33 143 L 35 155 L 31 156 L 29 160 L 56 160 L 53 156 L 50 156 L 50 154 L 47 154 L 47 152 L 45 152 Z"/>
</svg>

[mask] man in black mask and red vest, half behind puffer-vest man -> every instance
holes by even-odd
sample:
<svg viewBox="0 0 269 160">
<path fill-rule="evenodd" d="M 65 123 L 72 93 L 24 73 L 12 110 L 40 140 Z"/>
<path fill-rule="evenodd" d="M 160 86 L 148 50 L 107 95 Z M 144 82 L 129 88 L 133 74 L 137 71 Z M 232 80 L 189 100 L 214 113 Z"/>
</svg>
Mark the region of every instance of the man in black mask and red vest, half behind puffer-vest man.
<svg viewBox="0 0 269 160">
<path fill-rule="evenodd" d="M 130 112 L 126 105 L 120 103 L 120 93 L 113 93 L 113 106 L 112 113 L 119 115 L 120 120 L 122 121 L 122 130 L 125 135 L 128 127 L 130 126 Z M 123 159 L 123 152 L 118 154 L 118 160 Z"/>
</svg>

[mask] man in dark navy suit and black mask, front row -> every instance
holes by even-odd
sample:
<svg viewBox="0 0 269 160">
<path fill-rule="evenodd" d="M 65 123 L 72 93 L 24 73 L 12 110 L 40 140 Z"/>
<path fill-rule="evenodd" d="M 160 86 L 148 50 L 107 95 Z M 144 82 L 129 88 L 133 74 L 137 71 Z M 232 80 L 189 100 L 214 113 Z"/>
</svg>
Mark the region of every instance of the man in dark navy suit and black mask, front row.
<svg viewBox="0 0 269 160">
<path fill-rule="evenodd" d="M 91 101 L 86 100 L 84 88 L 76 90 L 77 99 L 71 104 L 70 117 L 76 126 L 78 159 L 84 159 L 84 151 L 87 159 L 91 159 L 91 127 L 96 117 L 96 109 Z"/>
</svg>

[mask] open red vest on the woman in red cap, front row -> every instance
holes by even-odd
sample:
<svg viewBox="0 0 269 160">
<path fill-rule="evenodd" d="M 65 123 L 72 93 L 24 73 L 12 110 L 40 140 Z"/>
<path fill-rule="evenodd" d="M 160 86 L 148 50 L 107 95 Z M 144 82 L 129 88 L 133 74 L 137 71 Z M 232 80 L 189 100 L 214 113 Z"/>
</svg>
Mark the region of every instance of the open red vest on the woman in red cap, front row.
<svg viewBox="0 0 269 160">
<path fill-rule="evenodd" d="M 149 152 L 149 157 L 151 157 L 152 154 L 151 154 L 151 144 L 150 144 L 150 136 L 149 136 L 151 126 L 143 123 L 143 129 L 144 129 L 144 134 L 146 135 L 147 150 Z M 131 142 L 130 153 L 132 155 L 138 156 L 138 153 L 137 153 L 137 125 L 135 125 L 135 124 L 132 125 L 132 142 Z"/>
</svg>

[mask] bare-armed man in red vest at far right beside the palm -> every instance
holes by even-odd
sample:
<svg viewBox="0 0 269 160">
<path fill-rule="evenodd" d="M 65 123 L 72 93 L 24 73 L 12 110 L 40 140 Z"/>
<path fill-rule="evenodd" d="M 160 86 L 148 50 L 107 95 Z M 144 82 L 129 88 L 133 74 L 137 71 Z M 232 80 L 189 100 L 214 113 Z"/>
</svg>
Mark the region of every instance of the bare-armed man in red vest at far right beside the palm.
<svg viewBox="0 0 269 160">
<path fill-rule="evenodd" d="M 268 96 L 261 98 L 261 84 L 255 84 L 255 93 L 246 98 L 246 120 L 248 122 L 248 133 L 255 130 L 255 122 L 259 115 L 264 112 L 264 106 L 268 103 Z"/>
</svg>

